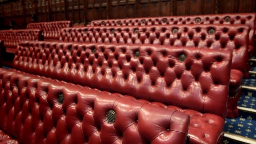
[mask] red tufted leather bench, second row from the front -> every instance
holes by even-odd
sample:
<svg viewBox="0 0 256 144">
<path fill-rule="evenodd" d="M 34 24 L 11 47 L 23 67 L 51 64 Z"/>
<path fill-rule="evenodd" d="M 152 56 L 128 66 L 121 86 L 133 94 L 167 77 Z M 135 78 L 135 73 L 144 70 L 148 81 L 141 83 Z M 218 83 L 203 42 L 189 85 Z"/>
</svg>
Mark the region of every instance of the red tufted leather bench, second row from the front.
<svg viewBox="0 0 256 144">
<path fill-rule="evenodd" d="M 190 143 L 214 144 L 223 135 L 230 51 L 46 41 L 17 50 L 16 69 L 173 105 L 191 116 Z"/>
</svg>

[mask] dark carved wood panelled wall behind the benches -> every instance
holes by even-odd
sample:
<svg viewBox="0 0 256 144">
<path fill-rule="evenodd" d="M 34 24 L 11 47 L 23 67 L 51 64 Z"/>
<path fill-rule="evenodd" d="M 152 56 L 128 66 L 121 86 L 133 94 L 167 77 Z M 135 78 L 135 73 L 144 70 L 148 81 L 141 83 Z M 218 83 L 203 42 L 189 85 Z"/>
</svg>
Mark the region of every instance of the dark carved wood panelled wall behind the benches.
<svg viewBox="0 0 256 144">
<path fill-rule="evenodd" d="M 0 4 L 0 29 L 71 20 L 74 25 L 107 18 L 256 12 L 256 0 L 16 0 Z"/>
</svg>

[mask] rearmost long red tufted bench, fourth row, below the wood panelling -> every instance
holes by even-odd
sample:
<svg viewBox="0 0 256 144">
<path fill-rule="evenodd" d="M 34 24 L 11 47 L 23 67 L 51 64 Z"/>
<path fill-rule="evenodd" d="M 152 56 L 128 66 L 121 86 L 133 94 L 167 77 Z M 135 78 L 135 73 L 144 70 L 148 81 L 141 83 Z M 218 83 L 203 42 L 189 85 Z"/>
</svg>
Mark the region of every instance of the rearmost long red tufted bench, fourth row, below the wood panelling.
<svg viewBox="0 0 256 144">
<path fill-rule="evenodd" d="M 212 14 L 212 15 L 190 15 L 190 16 L 163 16 L 163 17 L 139 17 L 112 20 L 95 20 L 91 25 L 157 25 L 157 24 L 245 24 L 249 26 L 249 56 L 254 51 L 254 33 L 255 33 L 255 15 L 256 13 L 238 13 L 238 14 Z M 225 18 L 229 17 L 229 21 Z M 199 18 L 199 22 L 196 20 Z M 143 23 L 144 21 L 144 23 Z M 166 22 L 164 22 L 166 21 Z"/>
</svg>

